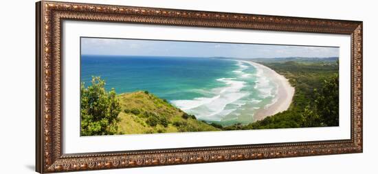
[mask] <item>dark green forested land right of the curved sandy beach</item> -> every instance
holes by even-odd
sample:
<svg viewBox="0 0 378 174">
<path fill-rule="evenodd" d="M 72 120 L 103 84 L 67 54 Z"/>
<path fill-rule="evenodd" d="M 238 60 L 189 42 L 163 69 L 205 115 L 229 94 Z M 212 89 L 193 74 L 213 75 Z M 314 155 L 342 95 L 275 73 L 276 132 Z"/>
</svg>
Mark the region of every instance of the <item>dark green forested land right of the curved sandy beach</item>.
<svg viewBox="0 0 378 174">
<path fill-rule="evenodd" d="M 337 126 L 339 123 L 338 64 L 335 60 L 259 62 L 284 75 L 296 88 L 289 110 L 249 125 L 223 129 L 274 129 Z M 318 90 L 319 89 L 319 90 Z"/>
</svg>

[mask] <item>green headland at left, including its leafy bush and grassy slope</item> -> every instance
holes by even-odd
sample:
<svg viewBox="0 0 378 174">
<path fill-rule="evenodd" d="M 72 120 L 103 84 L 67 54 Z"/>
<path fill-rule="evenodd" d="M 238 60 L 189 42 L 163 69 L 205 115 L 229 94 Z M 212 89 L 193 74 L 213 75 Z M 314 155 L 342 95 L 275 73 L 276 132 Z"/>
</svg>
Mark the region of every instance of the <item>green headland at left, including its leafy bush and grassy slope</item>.
<svg viewBox="0 0 378 174">
<path fill-rule="evenodd" d="M 87 88 L 82 84 L 82 136 L 221 130 L 148 91 L 115 95 L 113 89 L 107 92 L 104 84 L 100 77 L 93 77 Z"/>
</svg>

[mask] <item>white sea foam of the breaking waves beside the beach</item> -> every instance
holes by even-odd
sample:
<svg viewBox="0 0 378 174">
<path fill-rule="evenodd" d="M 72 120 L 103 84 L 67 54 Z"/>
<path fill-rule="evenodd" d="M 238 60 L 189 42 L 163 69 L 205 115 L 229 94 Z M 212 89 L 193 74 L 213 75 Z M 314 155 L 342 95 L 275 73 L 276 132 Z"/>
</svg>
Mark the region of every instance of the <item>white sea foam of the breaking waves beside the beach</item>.
<svg viewBox="0 0 378 174">
<path fill-rule="evenodd" d="M 227 120 L 237 119 L 241 116 L 237 111 L 248 108 L 253 116 L 254 110 L 264 107 L 267 103 L 276 102 L 274 101 L 276 95 L 274 84 L 265 77 L 262 69 L 238 60 L 236 60 L 236 67 L 232 71 L 233 77 L 215 79 L 215 82 L 224 84 L 224 87 L 211 90 L 196 89 L 197 92 L 206 94 L 205 97 L 170 102 L 184 112 L 194 114 L 197 119 L 205 121 L 223 121 L 225 116 L 230 114 L 234 117 L 227 116 Z M 254 67 L 256 71 L 250 71 L 251 67 Z"/>
</svg>

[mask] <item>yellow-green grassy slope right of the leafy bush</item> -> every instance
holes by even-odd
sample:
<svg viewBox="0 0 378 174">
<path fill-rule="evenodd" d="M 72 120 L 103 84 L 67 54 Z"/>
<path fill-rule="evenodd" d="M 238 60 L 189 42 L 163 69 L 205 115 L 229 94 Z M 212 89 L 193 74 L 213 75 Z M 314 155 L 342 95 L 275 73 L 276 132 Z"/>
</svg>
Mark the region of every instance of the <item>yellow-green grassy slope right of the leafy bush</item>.
<svg viewBox="0 0 378 174">
<path fill-rule="evenodd" d="M 212 127 L 196 119 L 184 119 L 184 112 L 175 108 L 175 106 L 159 99 L 151 93 L 142 91 L 124 93 L 118 95 L 122 111 L 119 116 L 121 118 L 118 124 L 119 134 L 145 134 L 145 133 L 164 133 L 164 132 L 200 132 L 200 131 L 216 131 L 216 127 Z M 138 110 L 140 113 L 134 114 L 130 110 Z M 157 125 L 150 125 L 148 119 L 150 117 L 157 118 Z M 166 118 L 167 125 L 164 127 L 160 123 L 161 119 Z"/>
</svg>

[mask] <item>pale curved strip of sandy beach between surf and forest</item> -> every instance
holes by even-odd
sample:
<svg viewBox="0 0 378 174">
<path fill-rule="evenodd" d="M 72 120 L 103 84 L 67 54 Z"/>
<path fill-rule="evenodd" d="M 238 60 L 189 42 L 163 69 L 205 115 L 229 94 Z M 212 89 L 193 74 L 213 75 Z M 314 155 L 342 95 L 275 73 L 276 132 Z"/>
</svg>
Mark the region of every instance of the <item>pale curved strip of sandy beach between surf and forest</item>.
<svg viewBox="0 0 378 174">
<path fill-rule="evenodd" d="M 287 110 L 291 104 L 291 100 L 293 99 L 295 91 L 295 88 L 290 85 L 288 79 L 262 64 L 251 61 L 243 62 L 251 64 L 257 69 L 263 70 L 264 75 L 266 75 L 271 81 L 278 85 L 276 102 L 266 108 L 260 108 L 259 110 L 257 110 L 256 114 L 254 114 L 254 121 L 259 121 L 265 119 L 265 117 L 267 116 L 271 116 L 277 114 L 278 112 Z"/>
</svg>

